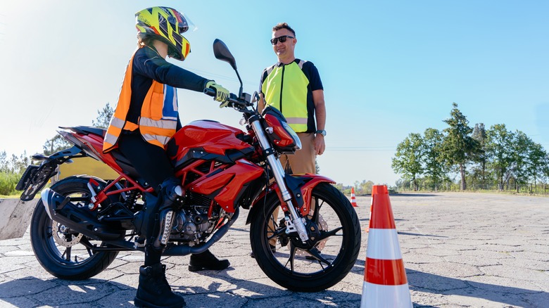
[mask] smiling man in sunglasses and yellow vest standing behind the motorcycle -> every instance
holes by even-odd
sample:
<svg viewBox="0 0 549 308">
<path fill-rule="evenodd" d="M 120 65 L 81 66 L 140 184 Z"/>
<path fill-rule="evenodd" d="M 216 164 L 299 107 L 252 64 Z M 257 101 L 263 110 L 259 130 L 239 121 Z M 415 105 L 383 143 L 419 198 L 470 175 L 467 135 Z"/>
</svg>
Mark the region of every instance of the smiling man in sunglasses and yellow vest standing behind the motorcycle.
<svg viewBox="0 0 549 308">
<path fill-rule="evenodd" d="M 272 27 L 271 44 L 278 62 L 263 70 L 258 110 L 262 112 L 266 105 L 280 110 L 301 140 L 301 150 L 281 155 L 282 167 L 291 169 L 292 174 L 315 174 L 316 156 L 326 148 L 324 89 L 315 65 L 296 58 L 296 43 L 296 32 L 287 23 Z M 276 219 L 278 210 L 273 215 Z M 273 252 L 276 240 L 270 241 Z"/>
</svg>

